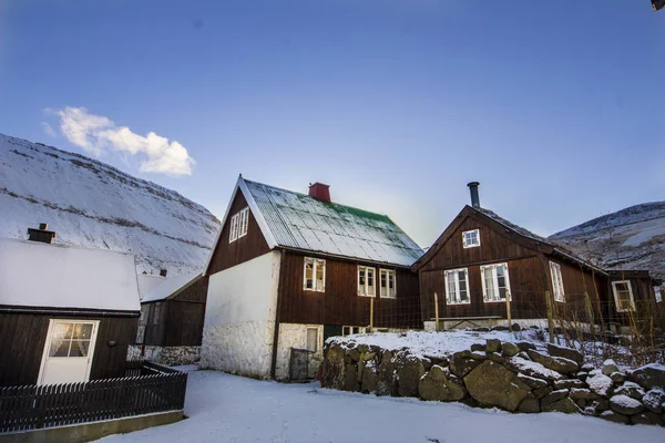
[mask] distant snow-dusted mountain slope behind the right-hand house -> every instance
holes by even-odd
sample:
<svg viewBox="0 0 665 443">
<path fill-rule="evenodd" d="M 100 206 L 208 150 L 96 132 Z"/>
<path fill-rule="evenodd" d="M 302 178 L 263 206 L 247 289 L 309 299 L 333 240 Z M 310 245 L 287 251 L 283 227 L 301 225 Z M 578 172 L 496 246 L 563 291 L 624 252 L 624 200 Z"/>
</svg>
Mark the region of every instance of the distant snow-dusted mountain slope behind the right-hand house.
<svg viewBox="0 0 665 443">
<path fill-rule="evenodd" d="M 648 269 L 665 278 L 665 202 L 631 206 L 550 239 L 607 269 Z"/>
</svg>

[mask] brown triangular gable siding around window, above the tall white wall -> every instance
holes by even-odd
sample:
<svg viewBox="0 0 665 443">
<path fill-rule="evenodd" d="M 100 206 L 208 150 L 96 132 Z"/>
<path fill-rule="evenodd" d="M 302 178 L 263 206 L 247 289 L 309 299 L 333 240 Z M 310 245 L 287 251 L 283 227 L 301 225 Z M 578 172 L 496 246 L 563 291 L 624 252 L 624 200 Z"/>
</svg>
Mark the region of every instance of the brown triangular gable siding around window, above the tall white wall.
<svg viewBox="0 0 665 443">
<path fill-rule="evenodd" d="M 215 245 L 213 258 L 206 270 L 206 275 L 211 276 L 221 270 L 228 269 L 233 266 L 239 265 L 245 261 L 249 261 L 253 258 L 267 254 L 270 248 L 256 223 L 256 218 L 249 209 L 249 224 L 247 226 L 247 235 L 238 238 L 233 243 L 228 243 L 228 235 L 231 231 L 231 218 L 234 214 L 241 209 L 247 207 L 247 200 L 243 196 L 243 193 L 238 189 L 231 210 L 228 212 L 228 218 L 222 227 L 222 235 L 219 241 Z"/>
</svg>

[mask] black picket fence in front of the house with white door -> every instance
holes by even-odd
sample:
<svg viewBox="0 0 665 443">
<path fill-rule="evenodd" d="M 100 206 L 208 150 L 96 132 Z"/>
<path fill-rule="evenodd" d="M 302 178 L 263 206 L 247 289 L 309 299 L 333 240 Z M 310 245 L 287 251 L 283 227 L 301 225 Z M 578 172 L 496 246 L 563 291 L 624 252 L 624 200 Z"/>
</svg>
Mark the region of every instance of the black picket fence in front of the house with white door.
<svg viewBox="0 0 665 443">
<path fill-rule="evenodd" d="M 0 388 L 0 433 L 184 409 L 185 372 L 131 362 L 127 374 L 81 383 Z"/>
</svg>

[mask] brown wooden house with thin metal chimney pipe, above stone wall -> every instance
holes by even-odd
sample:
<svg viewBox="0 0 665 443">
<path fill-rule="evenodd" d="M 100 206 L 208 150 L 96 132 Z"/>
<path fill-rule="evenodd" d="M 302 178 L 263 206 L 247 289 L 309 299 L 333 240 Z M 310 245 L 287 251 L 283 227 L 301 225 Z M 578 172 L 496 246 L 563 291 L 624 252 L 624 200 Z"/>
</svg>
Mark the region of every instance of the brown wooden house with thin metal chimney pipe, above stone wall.
<svg viewBox="0 0 665 443">
<path fill-rule="evenodd" d="M 434 297 L 440 324 L 460 327 L 505 323 L 507 298 L 513 319 L 543 326 L 546 293 L 562 318 L 585 318 L 589 295 L 595 317 L 602 312 L 606 320 L 624 323 L 634 297 L 654 296 L 642 274 L 628 272 L 623 279 L 593 266 L 481 208 L 478 183 L 469 186 L 472 206 L 466 206 L 411 267 L 419 276 L 426 327 L 433 327 Z"/>
</svg>

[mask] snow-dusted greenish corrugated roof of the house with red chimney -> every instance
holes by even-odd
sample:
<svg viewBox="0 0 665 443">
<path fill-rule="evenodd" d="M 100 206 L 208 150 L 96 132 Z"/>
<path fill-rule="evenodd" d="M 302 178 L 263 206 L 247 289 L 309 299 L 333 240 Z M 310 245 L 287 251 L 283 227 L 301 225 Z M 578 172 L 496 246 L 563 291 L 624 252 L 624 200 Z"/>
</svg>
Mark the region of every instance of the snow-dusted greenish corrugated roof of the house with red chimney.
<svg viewBox="0 0 665 443">
<path fill-rule="evenodd" d="M 262 229 L 275 246 L 410 266 L 422 249 L 388 216 L 238 179 Z M 246 192 L 245 192 L 246 190 Z M 263 219 L 262 219 L 263 218 Z M 264 233 L 265 235 L 266 233 Z M 272 241 L 268 241 L 270 244 Z"/>
</svg>

